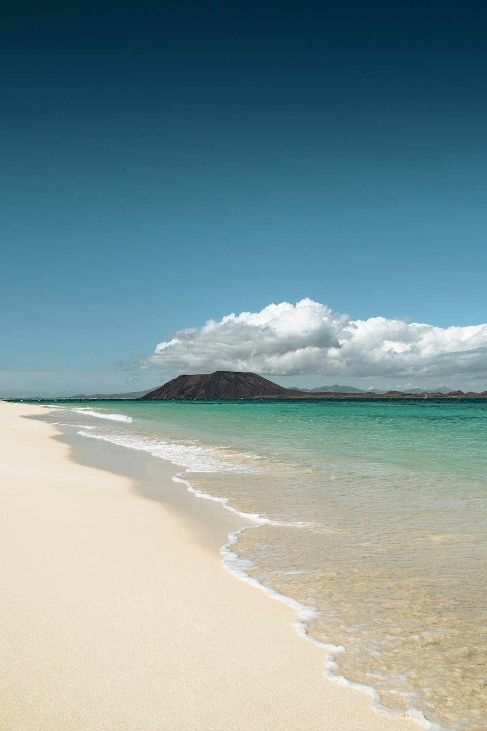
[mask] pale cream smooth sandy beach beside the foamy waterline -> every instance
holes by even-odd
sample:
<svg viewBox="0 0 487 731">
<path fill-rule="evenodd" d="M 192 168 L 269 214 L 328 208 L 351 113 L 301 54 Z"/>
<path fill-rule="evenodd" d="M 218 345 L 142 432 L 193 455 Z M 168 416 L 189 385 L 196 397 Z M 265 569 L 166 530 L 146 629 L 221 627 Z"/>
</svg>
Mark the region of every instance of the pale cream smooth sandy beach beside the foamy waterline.
<svg viewBox="0 0 487 731">
<path fill-rule="evenodd" d="M 5 731 L 419 731 L 328 681 L 296 613 L 184 516 L 83 466 L 45 409 L 0 402 Z"/>
</svg>

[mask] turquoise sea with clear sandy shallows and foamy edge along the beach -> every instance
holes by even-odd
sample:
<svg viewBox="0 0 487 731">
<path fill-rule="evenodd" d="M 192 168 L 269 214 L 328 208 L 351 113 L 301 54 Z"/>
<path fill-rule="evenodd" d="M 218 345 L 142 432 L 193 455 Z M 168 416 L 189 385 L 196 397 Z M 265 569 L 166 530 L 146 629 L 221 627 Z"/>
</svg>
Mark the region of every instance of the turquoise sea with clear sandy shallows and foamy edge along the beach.
<svg viewBox="0 0 487 731">
<path fill-rule="evenodd" d="M 169 459 L 195 491 L 268 520 L 232 550 L 316 607 L 306 629 L 343 648 L 335 675 L 388 711 L 486 729 L 487 400 L 55 406 L 86 436 Z"/>
</svg>

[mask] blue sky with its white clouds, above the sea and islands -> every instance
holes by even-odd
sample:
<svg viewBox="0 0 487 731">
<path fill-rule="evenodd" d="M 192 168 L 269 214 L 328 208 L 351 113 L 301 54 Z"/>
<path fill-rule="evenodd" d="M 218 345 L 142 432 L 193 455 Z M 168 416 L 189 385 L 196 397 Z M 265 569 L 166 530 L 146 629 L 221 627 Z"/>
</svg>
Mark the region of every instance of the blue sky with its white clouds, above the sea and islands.
<svg viewBox="0 0 487 731">
<path fill-rule="evenodd" d="M 486 41 L 468 1 L 11 4 L 0 396 L 486 389 Z"/>
</svg>

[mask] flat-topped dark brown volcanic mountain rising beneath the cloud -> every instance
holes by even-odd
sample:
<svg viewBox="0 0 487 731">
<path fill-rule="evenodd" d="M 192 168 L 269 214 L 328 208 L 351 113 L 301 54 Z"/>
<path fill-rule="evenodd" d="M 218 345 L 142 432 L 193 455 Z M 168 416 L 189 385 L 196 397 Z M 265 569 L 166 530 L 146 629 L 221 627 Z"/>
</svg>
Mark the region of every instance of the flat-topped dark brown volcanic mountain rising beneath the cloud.
<svg viewBox="0 0 487 731">
<path fill-rule="evenodd" d="M 295 398 L 296 393 L 254 373 L 215 371 L 196 376 L 178 376 L 154 391 L 146 393 L 142 398 L 144 401 L 290 398 L 290 396 Z"/>
</svg>

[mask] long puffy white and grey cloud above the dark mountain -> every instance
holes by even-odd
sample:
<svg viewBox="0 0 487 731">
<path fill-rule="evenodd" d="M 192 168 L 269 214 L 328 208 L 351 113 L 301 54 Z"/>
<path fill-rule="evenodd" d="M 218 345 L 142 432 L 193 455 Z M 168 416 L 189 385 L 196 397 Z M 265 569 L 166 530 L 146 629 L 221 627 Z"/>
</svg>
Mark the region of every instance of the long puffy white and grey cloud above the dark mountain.
<svg viewBox="0 0 487 731">
<path fill-rule="evenodd" d="M 306 298 L 178 330 L 137 364 L 151 366 L 180 373 L 485 378 L 487 324 L 442 328 L 397 317 L 350 320 Z"/>
</svg>

